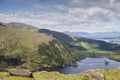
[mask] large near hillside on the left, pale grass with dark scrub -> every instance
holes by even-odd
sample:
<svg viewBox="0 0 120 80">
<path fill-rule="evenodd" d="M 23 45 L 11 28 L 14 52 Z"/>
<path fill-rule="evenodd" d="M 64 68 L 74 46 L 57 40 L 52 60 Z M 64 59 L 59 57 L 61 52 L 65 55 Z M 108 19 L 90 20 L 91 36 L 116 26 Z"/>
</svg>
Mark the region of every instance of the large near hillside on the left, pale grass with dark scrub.
<svg viewBox="0 0 120 80">
<path fill-rule="evenodd" d="M 0 69 L 49 69 L 71 63 L 72 51 L 51 36 L 0 26 Z"/>
</svg>

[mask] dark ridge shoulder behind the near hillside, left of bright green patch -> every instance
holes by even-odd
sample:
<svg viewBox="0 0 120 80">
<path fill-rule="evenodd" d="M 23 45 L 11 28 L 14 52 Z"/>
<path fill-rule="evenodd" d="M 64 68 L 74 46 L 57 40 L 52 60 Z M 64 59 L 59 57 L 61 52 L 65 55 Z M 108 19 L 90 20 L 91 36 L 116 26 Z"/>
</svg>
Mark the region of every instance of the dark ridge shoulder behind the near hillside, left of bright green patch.
<svg viewBox="0 0 120 80">
<path fill-rule="evenodd" d="M 38 32 L 50 35 L 50 36 L 56 38 L 57 40 L 65 43 L 70 48 L 75 48 L 75 49 L 78 49 L 78 50 L 85 50 L 82 46 L 74 46 L 73 45 L 73 43 L 77 41 L 77 38 L 75 38 L 75 37 L 66 35 L 66 34 L 61 33 L 61 32 L 51 31 L 51 30 L 48 30 L 48 29 L 39 29 Z"/>
</svg>

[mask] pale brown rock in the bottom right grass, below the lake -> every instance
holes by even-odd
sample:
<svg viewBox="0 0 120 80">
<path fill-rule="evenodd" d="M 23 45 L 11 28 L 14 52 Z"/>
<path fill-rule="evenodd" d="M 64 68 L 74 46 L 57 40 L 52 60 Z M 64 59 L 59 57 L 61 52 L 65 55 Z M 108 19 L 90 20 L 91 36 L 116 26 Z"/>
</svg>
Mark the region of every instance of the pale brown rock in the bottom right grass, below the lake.
<svg viewBox="0 0 120 80">
<path fill-rule="evenodd" d="M 88 70 L 86 72 L 83 72 L 83 75 L 93 78 L 95 80 L 105 80 L 105 76 L 95 70 Z"/>
</svg>

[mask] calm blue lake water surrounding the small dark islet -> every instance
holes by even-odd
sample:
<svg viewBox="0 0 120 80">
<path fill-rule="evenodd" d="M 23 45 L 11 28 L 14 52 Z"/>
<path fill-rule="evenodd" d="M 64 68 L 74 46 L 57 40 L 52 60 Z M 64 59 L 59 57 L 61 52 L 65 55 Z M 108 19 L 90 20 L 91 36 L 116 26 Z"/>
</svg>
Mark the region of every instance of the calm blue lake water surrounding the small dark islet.
<svg viewBox="0 0 120 80">
<path fill-rule="evenodd" d="M 105 64 L 105 60 L 109 62 L 108 65 Z M 66 66 L 64 68 L 58 68 L 56 71 L 64 74 L 77 74 L 89 69 L 115 69 L 120 67 L 120 62 L 106 58 L 85 58 L 76 63 L 78 64 L 77 67 Z"/>
</svg>

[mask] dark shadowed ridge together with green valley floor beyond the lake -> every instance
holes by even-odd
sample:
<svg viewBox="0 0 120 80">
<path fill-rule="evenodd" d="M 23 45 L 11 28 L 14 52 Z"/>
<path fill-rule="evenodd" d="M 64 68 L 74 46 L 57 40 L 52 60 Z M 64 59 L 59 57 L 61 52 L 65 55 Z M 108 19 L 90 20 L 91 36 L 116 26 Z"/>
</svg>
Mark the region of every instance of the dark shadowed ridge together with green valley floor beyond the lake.
<svg viewBox="0 0 120 80">
<path fill-rule="evenodd" d="M 40 29 L 39 33 L 51 35 L 57 40 L 65 43 L 69 48 L 77 51 L 77 58 L 105 57 L 120 61 L 120 45 L 104 41 L 88 39 L 84 37 L 73 37 L 61 32 Z M 74 54 L 76 55 L 76 54 Z"/>
</svg>

